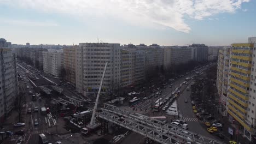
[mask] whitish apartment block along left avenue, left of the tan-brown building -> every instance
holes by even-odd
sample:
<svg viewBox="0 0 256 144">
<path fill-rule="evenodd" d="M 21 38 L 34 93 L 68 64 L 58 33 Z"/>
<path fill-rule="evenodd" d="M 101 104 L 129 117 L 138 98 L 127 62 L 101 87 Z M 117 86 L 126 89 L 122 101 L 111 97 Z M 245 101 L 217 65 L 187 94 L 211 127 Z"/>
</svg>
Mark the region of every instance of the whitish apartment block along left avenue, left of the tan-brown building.
<svg viewBox="0 0 256 144">
<path fill-rule="evenodd" d="M 43 70 L 46 74 L 61 76 L 63 68 L 63 50 L 49 49 L 43 52 Z"/>
</svg>

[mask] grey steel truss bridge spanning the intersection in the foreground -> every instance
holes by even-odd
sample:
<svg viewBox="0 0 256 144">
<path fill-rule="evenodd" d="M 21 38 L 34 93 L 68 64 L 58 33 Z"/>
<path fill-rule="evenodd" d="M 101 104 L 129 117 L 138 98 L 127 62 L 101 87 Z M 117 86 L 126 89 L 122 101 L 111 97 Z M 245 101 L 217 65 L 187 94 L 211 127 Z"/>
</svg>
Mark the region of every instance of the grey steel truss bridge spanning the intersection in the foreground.
<svg viewBox="0 0 256 144">
<path fill-rule="evenodd" d="M 181 129 L 172 124 L 166 124 L 139 113 L 120 109 L 117 106 L 104 104 L 101 110 L 101 112 L 97 113 L 98 117 L 135 131 L 159 143 L 224 144 L 223 142 Z"/>
</svg>

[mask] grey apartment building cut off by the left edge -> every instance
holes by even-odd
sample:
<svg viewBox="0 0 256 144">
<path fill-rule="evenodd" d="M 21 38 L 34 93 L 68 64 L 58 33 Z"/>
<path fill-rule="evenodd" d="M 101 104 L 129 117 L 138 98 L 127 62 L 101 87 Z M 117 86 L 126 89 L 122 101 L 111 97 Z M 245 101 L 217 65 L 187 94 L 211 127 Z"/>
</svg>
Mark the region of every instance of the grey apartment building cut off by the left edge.
<svg viewBox="0 0 256 144">
<path fill-rule="evenodd" d="M 11 49 L 0 48 L 0 122 L 14 108 L 18 95 L 16 56 Z"/>
</svg>

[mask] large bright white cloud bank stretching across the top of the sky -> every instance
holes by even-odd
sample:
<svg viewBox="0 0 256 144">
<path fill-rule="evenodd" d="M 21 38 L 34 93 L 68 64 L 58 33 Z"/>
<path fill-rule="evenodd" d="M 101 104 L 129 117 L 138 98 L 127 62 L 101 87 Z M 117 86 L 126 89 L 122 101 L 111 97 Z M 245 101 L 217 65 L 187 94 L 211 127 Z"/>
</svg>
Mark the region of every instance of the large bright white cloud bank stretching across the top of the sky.
<svg viewBox="0 0 256 144">
<path fill-rule="evenodd" d="M 0 5 L 32 8 L 45 13 L 79 17 L 114 17 L 135 25 L 170 27 L 189 33 L 185 17 L 203 20 L 219 13 L 235 13 L 250 0 L 0 0 Z"/>
</svg>

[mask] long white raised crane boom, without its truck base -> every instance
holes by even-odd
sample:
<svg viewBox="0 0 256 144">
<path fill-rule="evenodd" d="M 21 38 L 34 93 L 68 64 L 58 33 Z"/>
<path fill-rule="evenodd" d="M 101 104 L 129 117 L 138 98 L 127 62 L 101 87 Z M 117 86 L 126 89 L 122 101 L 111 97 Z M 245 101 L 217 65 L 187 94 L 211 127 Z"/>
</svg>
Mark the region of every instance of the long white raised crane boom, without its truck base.
<svg viewBox="0 0 256 144">
<path fill-rule="evenodd" d="M 96 113 L 96 110 L 97 110 L 98 98 L 100 97 L 101 87 L 102 87 L 102 83 L 103 83 L 103 79 L 104 79 L 106 69 L 107 69 L 107 63 L 105 64 L 103 75 L 101 77 L 101 84 L 100 84 L 100 87 L 98 88 L 98 94 L 97 94 L 97 98 L 96 98 L 95 105 L 94 105 L 94 111 L 92 111 L 91 122 L 88 124 L 89 128 L 93 128 L 94 125 L 95 125 L 95 113 Z"/>
</svg>

